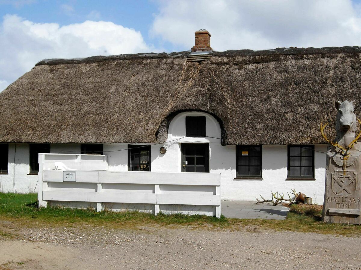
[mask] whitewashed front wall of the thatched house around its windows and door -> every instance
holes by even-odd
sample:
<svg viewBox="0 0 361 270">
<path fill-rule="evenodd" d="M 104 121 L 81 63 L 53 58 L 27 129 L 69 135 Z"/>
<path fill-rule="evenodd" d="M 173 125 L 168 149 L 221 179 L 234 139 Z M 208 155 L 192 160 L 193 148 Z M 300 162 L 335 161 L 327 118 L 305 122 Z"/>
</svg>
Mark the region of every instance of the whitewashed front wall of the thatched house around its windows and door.
<svg viewBox="0 0 361 270">
<path fill-rule="evenodd" d="M 217 120 L 202 112 L 184 112 L 174 117 L 168 131 L 165 144 L 151 146 L 152 172 L 181 171 L 181 143 L 209 143 L 209 171 L 221 174 L 221 196 L 228 200 L 254 201 L 259 194 L 270 198 L 273 192 L 290 192 L 291 189 L 301 191 L 313 198 L 313 202 L 323 203 L 325 188 L 326 145 L 315 145 L 315 179 L 287 181 L 287 145 L 262 145 L 262 180 L 235 179 L 236 146 L 222 146 L 220 139 L 214 138 L 183 138 L 186 136 L 185 117 L 206 116 L 206 135 L 221 138 L 221 128 Z M 161 154 L 160 147 L 167 152 Z M 127 144 L 104 144 L 110 171 L 127 171 Z M 114 151 L 116 150 L 116 151 Z M 118 151 L 120 150 L 120 151 Z M 111 152 L 108 152 L 111 151 Z M 52 144 L 51 153 L 81 152 L 80 144 Z M 0 188 L 4 192 L 13 191 L 13 160 L 14 144 L 9 145 L 9 175 L 0 175 Z M 37 176 L 29 173 L 29 146 L 17 144 L 15 163 L 16 192 L 29 192 L 35 188 Z"/>
</svg>

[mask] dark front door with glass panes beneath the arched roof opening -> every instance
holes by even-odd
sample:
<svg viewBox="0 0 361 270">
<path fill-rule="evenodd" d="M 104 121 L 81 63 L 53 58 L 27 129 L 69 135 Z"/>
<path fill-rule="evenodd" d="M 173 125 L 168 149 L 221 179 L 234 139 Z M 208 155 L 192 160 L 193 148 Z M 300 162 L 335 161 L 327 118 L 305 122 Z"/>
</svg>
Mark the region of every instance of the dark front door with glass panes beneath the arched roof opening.
<svg viewBox="0 0 361 270">
<path fill-rule="evenodd" d="M 208 143 L 182 143 L 182 172 L 209 172 L 208 154 Z"/>
</svg>

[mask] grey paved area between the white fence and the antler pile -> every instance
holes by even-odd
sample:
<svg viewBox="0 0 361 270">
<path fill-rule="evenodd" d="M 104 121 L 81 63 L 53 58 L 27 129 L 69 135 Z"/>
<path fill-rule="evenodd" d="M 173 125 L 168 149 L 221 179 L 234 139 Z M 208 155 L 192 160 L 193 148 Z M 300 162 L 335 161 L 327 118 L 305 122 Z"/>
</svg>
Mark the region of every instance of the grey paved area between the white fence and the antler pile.
<svg viewBox="0 0 361 270">
<path fill-rule="evenodd" d="M 288 208 L 253 201 L 222 201 L 221 213 L 236 219 L 286 219 Z"/>
</svg>

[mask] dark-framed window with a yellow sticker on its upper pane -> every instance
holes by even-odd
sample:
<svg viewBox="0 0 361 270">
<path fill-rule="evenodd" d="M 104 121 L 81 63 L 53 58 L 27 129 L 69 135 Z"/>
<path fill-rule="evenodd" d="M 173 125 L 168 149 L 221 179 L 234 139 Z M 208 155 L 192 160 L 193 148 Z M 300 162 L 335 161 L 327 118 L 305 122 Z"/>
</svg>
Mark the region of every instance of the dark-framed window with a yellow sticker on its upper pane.
<svg viewBox="0 0 361 270">
<path fill-rule="evenodd" d="M 237 177 L 261 177 L 261 145 L 237 145 Z"/>
</svg>

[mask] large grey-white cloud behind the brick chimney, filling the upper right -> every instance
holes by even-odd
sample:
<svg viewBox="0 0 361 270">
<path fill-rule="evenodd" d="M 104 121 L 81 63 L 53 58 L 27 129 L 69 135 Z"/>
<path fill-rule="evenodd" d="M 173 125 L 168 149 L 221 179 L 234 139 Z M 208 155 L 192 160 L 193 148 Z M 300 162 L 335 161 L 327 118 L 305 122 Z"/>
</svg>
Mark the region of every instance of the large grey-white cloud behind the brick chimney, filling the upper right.
<svg viewBox="0 0 361 270">
<path fill-rule="evenodd" d="M 159 1 L 150 34 L 190 49 L 207 28 L 214 50 L 361 45 L 360 6 L 351 0 Z"/>
</svg>

